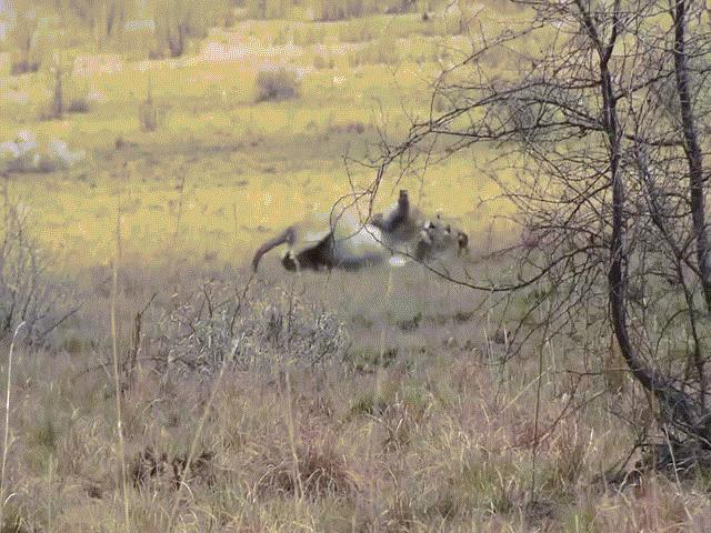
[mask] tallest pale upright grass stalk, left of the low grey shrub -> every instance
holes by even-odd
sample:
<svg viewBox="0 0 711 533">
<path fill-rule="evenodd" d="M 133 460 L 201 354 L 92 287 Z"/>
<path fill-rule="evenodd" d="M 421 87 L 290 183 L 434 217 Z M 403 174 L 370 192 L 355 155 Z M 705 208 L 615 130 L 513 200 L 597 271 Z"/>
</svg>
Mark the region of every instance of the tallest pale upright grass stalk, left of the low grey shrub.
<svg viewBox="0 0 711 533">
<path fill-rule="evenodd" d="M 121 487 L 123 490 L 123 525 L 127 533 L 130 533 L 130 513 L 128 494 L 128 470 L 126 466 L 126 443 L 123 442 L 123 423 L 121 415 L 121 383 L 119 378 L 119 346 L 116 320 L 116 303 L 119 289 L 119 260 L 121 258 L 121 208 L 119 207 L 116 219 L 116 254 L 113 258 L 113 269 L 111 273 L 111 352 L 113 359 L 113 384 L 116 388 L 116 429 L 119 439 L 119 455 L 121 460 Z"/>
</svg>

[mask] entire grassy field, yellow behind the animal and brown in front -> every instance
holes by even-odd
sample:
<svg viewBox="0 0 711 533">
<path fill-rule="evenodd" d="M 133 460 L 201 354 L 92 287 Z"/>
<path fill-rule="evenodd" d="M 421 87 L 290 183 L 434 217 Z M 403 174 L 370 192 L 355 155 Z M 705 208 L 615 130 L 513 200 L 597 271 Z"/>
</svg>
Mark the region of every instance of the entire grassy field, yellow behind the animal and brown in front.
<svg viewBox="0 0 711 533">
<path fill-rule="evenodd" d="M 420 265 L 289 275 L 269 258 L 247 272 L 260 242 L 373 180 L 346 155 L 425 117 L 433 77 L 477 46 L 457 18 L 432 17 L 241 20 L 158 61 L 140 42 L 72 49 L 64 92 L 89 109 L 53 120 L 40 120 L 52 73 L 2 67 L 0 142 L 29 130 L 87 158 L 4 175 L 49 271 L 2 282 L 52 299 L 10 375 L 1 340 L 0 533 L 711 530 L 705 475 L 605 477 L 639 436 L 611 413 L 644 428 L 654 414 L 600 332 L 533 335 L 507 362 L 495 299 Z M 491 2 L 472 24 L 493 34 L 519 17 Z M 299 97 L 258 101 L 260 70 L 278 64 L 298 72 Z M 505 61 L 488 68 L 505 76 Z M 475 258 L 512 238 L 511 208 L 478 170 L 487 150 L 423 182 L 393 169 L 375 209 L 407 188 L 469 232 Z M 573 360 L 582 342 L 589 359 Z M 598 371 L 575 389 L 575 372 Z"/>
</svg>

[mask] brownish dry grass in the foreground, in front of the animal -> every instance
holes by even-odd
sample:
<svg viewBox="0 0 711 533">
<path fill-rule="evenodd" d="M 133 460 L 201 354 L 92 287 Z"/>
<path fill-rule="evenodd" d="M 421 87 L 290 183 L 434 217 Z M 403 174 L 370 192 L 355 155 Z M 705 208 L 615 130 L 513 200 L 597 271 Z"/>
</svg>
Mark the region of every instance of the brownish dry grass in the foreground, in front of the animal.
<svg viewBox="0 0 711 533">
<path fill-rule="evenodd" d="M 259 324 L 269 302 L 299 315 L 292 319 L 293 343 L 274 344 L 266 330 L 252 332 L 253 343 L 264 343 L 262 359 L 227 359 L 217 366 L 224 369 L 220 374 L 166 359 L 166 344 L 158 342 L 167 332 L 161 320 L 176 309 L 174 300 L 192 305 L 206 286 L 214 301 L 234 298 L 247 279 L 203 272 L 206 282 L 212 279 L 206 285 L 199 272 L 182 269 L 163 274 L 161 283 L 138 268 L 119 272 L 120 360 L 134 342 L 131 318 L 157 286 L 166 286 L 143 315 L 134 378 L 119 388 L 133 531 L 168 531 L 173 517 L 173 531 L 186 532 L 708 527 L 703 476 L 678 485 L 650 473 L 621 492 L 599 482 L 633 439 L 604 400 L 545 433 L 531 502 L 538 362 L 492 365 L 504 346 L 491 341 L 494 331 L 488 330 L 494 326 L 485 315 L 472 311 L 472 294 L 448 298 L 431 279 L 429 293 L 418 293 L 412 283 L 421 273 L 403 270 L 390 283 L 391 301 L 402 305 L 379 308 L 378 272 L 370 280 L 334 274 L 281 281 L 267 273 L 239 292 L 239 333 Z M 107 330 L 111 293 L 101 292 L 94 275 L 81 282 L 86 292 L 79 298 L 93 294 L 103 314 L 82 312 L 61 334 Z M 371 289 L 362 289 L 364 281 Z M 361 300 L 342 300 L 358 288 Z M 319 308 L 341 316 L 351 344 L 347 353 L 334 351 L 314 363 L 300 356 L 307 344 L 298 330 L 312 323 L 309 310 Z M 417 326 L 403 329 L 401 321 L 413 313 L 421 316 Z M 219 321 L 212 326 L 227 328 Z M 286 322 L 280 328 L 288 335 Z M 17 352 L 6 473 L 11 496 L 2 531 L 123 529 L 116 390 L 106 366 L 111 338 L 98 336 L 91 349 L 80 343 L 72 351 L 60 345 Z M 372 338 L 378 340 L 369 344 Z M 563 364 L 564 354 L 555 355 Z M 540 426 L 548 429 L 567 401 L 564 380 L 545 374 Z"/>
</svg>

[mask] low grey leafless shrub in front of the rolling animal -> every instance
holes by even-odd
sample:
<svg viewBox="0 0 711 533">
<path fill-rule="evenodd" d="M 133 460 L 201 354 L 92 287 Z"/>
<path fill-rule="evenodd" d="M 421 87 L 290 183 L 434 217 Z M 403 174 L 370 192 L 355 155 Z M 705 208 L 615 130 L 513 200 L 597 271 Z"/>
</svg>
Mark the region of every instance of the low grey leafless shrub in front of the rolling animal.
<svg viewBox="0 0 711 533">
<path fill-rule="evenodd" d="M 274 356 L 307 364 L 342 358 L 349 336 L 336 315 L 286 294 L 281 303 L 248 303 L 243 290 L 208 281 L 176 296 L 158 319 L 161 358 L 207 373 L 223 363 L 248 368 Z"/>
</svg>

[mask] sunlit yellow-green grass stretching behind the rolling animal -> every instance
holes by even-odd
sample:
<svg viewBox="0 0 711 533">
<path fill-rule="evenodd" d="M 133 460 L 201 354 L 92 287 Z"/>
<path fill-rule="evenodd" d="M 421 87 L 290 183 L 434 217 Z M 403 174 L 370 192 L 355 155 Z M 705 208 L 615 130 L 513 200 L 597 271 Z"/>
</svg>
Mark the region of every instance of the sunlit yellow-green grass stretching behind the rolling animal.
<svg viewBox="0 0 711 533">
<path fill-rule="evenodd" d="M 3 141 L 30 130 L 40 144 L 58 138 L 88 151 L 71 170 L 9 175 L 10 194 L 31 208 L 40 239 L 66 265 L 106 262 L 119 212 L 129 251 L 150 258 L 180 245 L 240 261 L 268 233 L 330 209 L 351 192 L 349 180 L 372 181 L 372 170 L 347 168 L 344 155 L 377 154 L 381 132 L 398 139 L 408 114 L 427 115 L 428 84 L 452 53 L 442 46 L 465 43 L 428 34 L 447 26 L 444 14 L 432 19 L 246 21 L 212 31 L 194 56 L 160 61 L 62 52 L 66 107 L 88 112 L 59 120 L 39 120 L 54 94 L 50 67 L 3 77 Z M 314 42 L 296 44 L 308 32 Z M 298 80 L 298 98 L 260 97 L 260 76 L 280 64 Z M 475 174 L 475 157 L 433 167 L 424 187 L 414 175 L 395 185 L 393 175 L 378 208 L 408 188 L 425 210 L 482 230 L 488 212 L 475 207 L 495 188 Z"/>
</svg>

